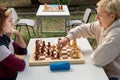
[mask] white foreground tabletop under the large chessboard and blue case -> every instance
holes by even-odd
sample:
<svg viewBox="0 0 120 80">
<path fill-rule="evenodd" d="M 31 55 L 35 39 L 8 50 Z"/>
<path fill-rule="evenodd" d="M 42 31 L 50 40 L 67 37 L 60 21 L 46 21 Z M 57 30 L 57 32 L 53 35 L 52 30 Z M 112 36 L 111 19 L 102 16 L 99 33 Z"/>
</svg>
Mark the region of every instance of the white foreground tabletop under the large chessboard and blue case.
<svg viewBox="0 0 120 80">
<path fill-rule="evenodd" d="M 35 46 L 35 40 L 30 39 L 28 44 L 28 55 L 25 58 L 26 68 L 23 72 L 18 73 L 17 80 L 108 80 L 102 67 L 91 64 L 90 55 L 93 52 L 86 38 L 77 39 L 78 46 L 85 57 L 85 64 L 72 64 L 70 71 L 51 72 L 49 66 L 32 66 L 28 65 L 28 60 L 32 48 Z M 55 38 L 43 38 L 45 41 L 56 42 Z"/>
</svg>

